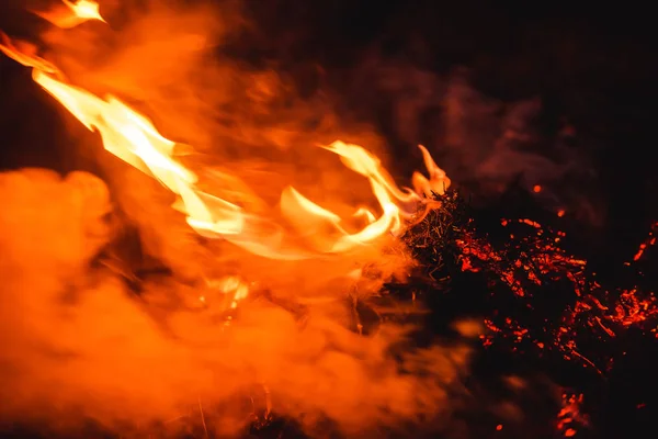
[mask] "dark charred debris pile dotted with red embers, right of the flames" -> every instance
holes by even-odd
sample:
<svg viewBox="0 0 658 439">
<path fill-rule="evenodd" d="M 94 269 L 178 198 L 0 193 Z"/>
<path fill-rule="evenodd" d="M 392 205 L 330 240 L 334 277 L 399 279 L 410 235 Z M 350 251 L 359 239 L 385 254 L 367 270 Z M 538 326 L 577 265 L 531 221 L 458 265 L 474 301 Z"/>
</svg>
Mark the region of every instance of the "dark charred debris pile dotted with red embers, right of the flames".
<svg viewBox="0 0 658 439">
<path fill-rule="evenodd" d="M 656 244 L 657 224 L 622 263 L 622 275 L 599 279 L 595 266 L 565 250 L 568 234 L 557 229 L 568 225 L 564 211 L 556 215 L 526 196 L 517 198 L 525 209 L 534 204 L 534 217 L 548 224 L 543 226 L 530 218 L 491 216 L 469 207 L 455 191 L 439 199 L 441 209 L 406 236 L 420 262 L 418 282 L 393 290 L 424 296 L 433 308 L 452 306 L 453 316 L 481 315 L 486 329 L 479 339 L 488 352 L 483 361 L 503 356 L 524 359 L 534 370 L 546 368 L 564 385 L 556 430 L 564 437 L 600 437 L 585 407 L 603 416 L 610 402 L 588 406 L 583 401 L 595 399 L 606 387 L 628 346 L 658 337 L 655 259 L 647 255 Z M 627 285 L 612 283 L 620 279 Z M 441 299 L 435 291 L 442 291 Z M 468 306 L 455 312 L 458 301 L 450 299 L 455 294 L 468 294 Z M 637 402 L 637 409 L 645 407 Z"/>
</svg>

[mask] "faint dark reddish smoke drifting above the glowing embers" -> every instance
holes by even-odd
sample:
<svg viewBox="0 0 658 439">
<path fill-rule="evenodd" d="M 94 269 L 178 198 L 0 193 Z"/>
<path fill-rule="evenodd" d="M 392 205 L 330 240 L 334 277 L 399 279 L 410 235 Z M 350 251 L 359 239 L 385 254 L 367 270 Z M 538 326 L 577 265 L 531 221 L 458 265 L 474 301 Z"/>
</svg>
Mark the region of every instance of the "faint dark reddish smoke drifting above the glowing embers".
<svg viewBox="0 0 658 439">
<path fill-rule="evenodd" d="M 541 95 L 517 101 L 487 95 L 475 86 L 475 70 L 440 74 L 426 67 L 424 52 L 422 45 L 404 55 L 386 54 L 379 44 L 367 47 L 360 65 L 334 81 L 348 97 L 343 108 L 358 117 L 376 115 L 378 130 L 396 145 L 398 162 L 413 164 L 413 146 L 427 146 L 476 201 L 495 200 L 512 184 L 531 193 L 538 185 L 535 196 L 547 209 L 601 225 L 587 137 Z"/>
</svg>

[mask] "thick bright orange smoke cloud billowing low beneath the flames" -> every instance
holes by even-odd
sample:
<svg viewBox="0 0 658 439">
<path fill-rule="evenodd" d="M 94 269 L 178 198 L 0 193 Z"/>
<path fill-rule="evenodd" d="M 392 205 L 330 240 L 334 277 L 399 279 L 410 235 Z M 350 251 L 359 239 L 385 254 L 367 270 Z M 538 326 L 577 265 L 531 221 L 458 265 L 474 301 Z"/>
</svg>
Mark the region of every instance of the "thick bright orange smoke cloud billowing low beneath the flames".
<svg viewBox="0 0 658 439">
<path fill-rule="evenodd" d="M 228 327 L 212 308 L 163 311 L 158 299 L 189 297 L 192 289 L 166 275 L 146 279 L 138 296 L 94 263 L 115 236 L 101 180 L 22 170 L 1 175 L 0 188 L 3 419 L 70 427 L 79 423 L 75 414 L 106 427 L 148 426 L 201 401 L 207 416 L 224 404 L 223 424 L 213 428 L 228 434 L 245 424 L 246 413 L 230 409 L 239 412 L 236 395 L 261 383 L 277 413 L 304 414 L 308 428 L 329 418 L 344 431 L 367 431 L 453 405 L 446 392 L 465 367 L 466 347 L 396 361 L 390 349 L 404 328 L 350 331 L 336 292 L 308 306 L 305 323 L 262 297 Z"/>
</svg>

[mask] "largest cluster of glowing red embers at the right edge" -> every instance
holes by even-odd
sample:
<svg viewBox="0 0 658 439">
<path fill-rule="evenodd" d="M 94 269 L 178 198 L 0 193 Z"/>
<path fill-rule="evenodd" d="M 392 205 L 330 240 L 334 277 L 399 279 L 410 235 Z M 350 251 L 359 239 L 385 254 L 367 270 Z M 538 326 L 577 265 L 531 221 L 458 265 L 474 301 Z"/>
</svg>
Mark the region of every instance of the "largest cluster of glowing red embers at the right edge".
<svg viewBox="0 0 658 439">
<path fill-rule="evenodd" d="M 530 341 L 541 350 L 556 349 L 565 359 L 580 361 L 603 373 L 602 370 L 610 367 L 611 358 L 600 359 L 598 364 L 580 351 L 581 325 L 597 337 L 614 338 L 631 326 L 648 330 L 658 317 L 653 292 L 643 292 L 635 286 L 608 290 L 597 282 L 594 274 L 587 270 L 585 260 L 568 255 L 559 246 L 566 237 L 564 232 L 554 232 L 527 218 L 503 219 L 501 225 L 504 228 L 520 226 L 510 233 L 510 240 L 501 249 L 476 236 L 472 227 L 462 234 L 457 239 L 462 270 L 490 275 L 490 282 L 506 285 L 529 309 L 534 309 L 536 305 L 533 302 L 540 299 L 532 296 L 530 291 L 533 288 L 566 279 L 574 293 L 574 302 L 564 309 L 559 325 L 546 323 L 541 333 L 510 316 L 487 318 L 485 325 L 489 334 L 480 336 L 485 346 L 490 346 L 497 338 L 508 340 L 513 349 Z M 637 261 L 654 243 L 651 232 L 634 260 Z"/>
</svg>

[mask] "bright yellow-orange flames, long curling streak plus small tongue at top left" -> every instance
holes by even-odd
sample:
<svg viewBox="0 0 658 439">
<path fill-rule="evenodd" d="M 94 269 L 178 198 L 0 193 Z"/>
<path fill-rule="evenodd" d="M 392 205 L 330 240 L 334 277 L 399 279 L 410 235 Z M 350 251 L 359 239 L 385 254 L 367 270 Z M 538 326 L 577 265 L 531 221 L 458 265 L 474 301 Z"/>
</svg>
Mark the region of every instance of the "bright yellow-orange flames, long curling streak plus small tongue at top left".
<svg viewBox="0 0 658 439">
<path fill-rule="evenodd" d="M 65 1 L 65 4 L 78 19 L 103 21 L 94 2 L 81 0 L 73 4 Z M 178 200 L 173 207 L 185 215 L 196 233 L 226 239 L 259 256 L 306 259 L 350 251 L 387 233 L 398 235 L 410 221 L 422 216 L 422 213 L 418 215 L 422 207 L 427 212 L 435 205 L 433 194 L 443 194 L 450 185 L 450 179 L 423 146 L 419 147 L 430 177 L 416 172 L 412 178 L 415 192 L 398 188 L 379 159 L 363 147 L 337 140 L 320 147 L 338 155 L 348 169 L 368 180 L 381 214 L 359 206 L 350 217 L 342 218 L 293 187 L 281 193 L 280 215 L 246 212 L 240 205 L 201 190 L 197 172 L 177 159 L 178 144 L 163 137 L 147 117 L 113 95 L 100 98 L 68 83 L 54 65 L 36 55 L 36 49 L 23 46 L 12 44 L 2 34 L 0 49 L 18 63 L 32 67 L 34 81 L 88 130 L 98 132 L 109 153 L 157 179 L 175 194 Z M 353 227 L 356 219 L 365 225 Z"/>
</svg>

